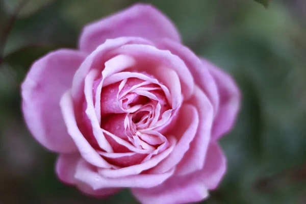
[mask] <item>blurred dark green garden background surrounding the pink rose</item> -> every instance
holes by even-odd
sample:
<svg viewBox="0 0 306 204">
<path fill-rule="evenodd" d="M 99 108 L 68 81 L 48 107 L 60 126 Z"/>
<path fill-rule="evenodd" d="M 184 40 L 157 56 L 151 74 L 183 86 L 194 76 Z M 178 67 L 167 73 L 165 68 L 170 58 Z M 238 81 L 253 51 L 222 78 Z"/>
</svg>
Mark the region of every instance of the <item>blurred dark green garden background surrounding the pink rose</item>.
<svg viewBox="0 0 306 204">
<path fill-rule="evenodd" d="M 98 200 L 60 183 L 56 155 L 25 127 L 19 88 L 35 59 L 77 47 L 86 23 L 136 2 L 1 0 L 0 203 L 137 203 L 129 190 Z M 242 90 L 235 129 L 221 139 L 227 174 L 203 203 L 306 203 L 306 1 L 272 0 L 268 9 L 253 0 L 143 2 Z"/>
</svg>

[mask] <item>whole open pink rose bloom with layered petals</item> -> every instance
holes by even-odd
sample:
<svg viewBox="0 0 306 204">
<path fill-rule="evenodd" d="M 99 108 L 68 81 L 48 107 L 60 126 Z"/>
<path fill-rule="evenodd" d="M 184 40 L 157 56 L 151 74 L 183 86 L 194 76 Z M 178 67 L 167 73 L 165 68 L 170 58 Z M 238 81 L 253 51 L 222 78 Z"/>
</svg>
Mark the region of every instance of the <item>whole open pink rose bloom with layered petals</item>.
<svg viewBox="0 0 306 204">
<path fill-rule="evenodd" d="M 196 202 L 226 171 L 218 139 L 240 92 L 150 5 L 86 25 L 79 49 L 38 59 L 21 90 L 31 133 L 59 154 L 59 179 L 85 194 L 131 188 L 141 203 Z"/>
</svg>

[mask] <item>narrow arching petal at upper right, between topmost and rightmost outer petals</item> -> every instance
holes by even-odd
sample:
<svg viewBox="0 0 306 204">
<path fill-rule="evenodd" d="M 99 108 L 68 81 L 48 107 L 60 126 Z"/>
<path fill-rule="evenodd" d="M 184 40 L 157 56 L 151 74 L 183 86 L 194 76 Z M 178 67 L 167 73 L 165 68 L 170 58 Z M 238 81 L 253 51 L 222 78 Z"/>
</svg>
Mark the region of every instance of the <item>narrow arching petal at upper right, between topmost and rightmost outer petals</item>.
<svg viewBox="0 0 306 204">
<path fill-rule="evenodd" d="M 217 114 L 219 107 L 219 95 L 216 83 L 201 60 L 186 46 L 177 43 L 170 39 L 162 39 L 158 43 L 158 48 L 169 50 L 173 55 L 179 56 L 182 59 L 189 71 L 191 72 L 196 85 L 203 90 L 210 99 L 213 107 L 214 114 Z"/>
</svg>

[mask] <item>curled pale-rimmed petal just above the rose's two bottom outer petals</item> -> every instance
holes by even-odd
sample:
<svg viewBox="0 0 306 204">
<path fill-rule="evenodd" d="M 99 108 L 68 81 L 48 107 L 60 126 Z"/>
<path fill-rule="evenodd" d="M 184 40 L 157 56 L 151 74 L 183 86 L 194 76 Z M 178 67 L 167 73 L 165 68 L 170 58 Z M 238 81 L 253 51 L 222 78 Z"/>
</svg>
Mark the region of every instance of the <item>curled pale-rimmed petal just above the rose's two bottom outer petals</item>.
<svg viewBox="0 0 306 204">
<path fill-rule="evenodd" d="M 97 168 L 80 160 L 75 173 L 75 179 L 89 185 L 93 190 L 108 188 L 151 188 L 162 184 L 174 172 L 171 169 L 161 174 L 139 174 L 120 178 L 107 178 L 101 176 Z"/>
</svg>

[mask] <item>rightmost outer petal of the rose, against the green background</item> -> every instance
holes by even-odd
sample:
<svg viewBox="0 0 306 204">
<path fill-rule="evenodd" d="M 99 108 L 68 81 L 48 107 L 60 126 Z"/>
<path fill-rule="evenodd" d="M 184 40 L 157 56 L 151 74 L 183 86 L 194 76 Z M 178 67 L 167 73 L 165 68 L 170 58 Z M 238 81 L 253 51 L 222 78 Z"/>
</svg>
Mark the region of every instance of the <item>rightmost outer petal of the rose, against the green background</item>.
<svg viewBox="0 0 306 204">
<path fill-rule="evenodd" d="M 202 59 L 212 74 L 220 97 L 218 113 L 213 125 L 213 138 L 218 139 L 230 131 L 235 123 L 240 108 L 240 91 L 233 78 L 212 63 Z"/>
</svg>

